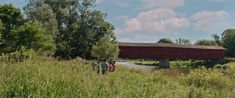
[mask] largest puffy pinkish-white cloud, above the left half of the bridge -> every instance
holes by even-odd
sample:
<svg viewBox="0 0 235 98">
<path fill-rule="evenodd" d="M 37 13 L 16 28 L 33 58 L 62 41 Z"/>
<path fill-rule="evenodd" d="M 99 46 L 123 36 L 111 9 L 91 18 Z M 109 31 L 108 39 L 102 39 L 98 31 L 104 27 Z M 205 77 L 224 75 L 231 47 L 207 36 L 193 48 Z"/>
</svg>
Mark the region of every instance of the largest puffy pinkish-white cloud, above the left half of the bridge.
<svg viewBox="0 0 235 98">
<path fill-rule="evenodd" d="M 187 28 L 190 22 L 170 9 L 153 9 L 141 12 L 125 21 L 125 31 L 137 33 L 169 32 Z"/>
</svg>

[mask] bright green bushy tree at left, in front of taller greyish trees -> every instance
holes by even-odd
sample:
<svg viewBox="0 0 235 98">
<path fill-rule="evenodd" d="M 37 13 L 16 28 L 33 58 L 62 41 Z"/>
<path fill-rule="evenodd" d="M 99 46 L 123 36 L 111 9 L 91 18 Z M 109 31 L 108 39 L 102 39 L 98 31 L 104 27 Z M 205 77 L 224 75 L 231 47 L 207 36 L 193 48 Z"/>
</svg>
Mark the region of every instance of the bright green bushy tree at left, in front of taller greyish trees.
<svg viewBox="0 0 235 98">
<path fill-rule="evenodd" d="M 26 49 L 51 51 L 55 50 L 54 44 L 51 39 L 44 34 L 45 30 L 38 22 L 25 22 L 21 26 L 14 28 L 11 32 L 13 52 L 18 51 L 21 46 Z"/>
</svg>

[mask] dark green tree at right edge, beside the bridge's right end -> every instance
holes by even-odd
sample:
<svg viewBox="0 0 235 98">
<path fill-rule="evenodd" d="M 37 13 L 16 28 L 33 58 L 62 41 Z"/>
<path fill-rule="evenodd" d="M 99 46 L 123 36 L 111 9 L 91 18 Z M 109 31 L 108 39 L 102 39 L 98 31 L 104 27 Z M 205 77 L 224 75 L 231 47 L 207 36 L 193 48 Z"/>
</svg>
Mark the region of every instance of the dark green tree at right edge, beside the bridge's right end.
<svg viewBox="0 0 235 98">
<path fill-rule="evenodd" d="M 227 29 L 222 33 L 222 41 L 227 49 L 225 55 L 227 57 L 235 57 L 235 29 Z"/>
</svg>

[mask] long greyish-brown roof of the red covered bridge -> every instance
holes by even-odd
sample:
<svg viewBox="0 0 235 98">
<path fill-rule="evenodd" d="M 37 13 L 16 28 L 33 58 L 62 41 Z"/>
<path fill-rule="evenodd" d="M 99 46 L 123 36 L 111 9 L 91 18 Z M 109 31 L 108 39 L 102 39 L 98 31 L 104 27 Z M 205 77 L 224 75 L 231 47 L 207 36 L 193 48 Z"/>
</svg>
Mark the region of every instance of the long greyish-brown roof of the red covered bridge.
<svg viewBox="0 0 235 98">
<path fill-rule="evenodd" d="M 168 48 L 225 50 L 225 48 L 222 46 L 178 45 L 178 44 L 162 44 L 162 43 L 130 43 L 130 42 L 119 42 L 118 44 L 119 46 L 128 46 L 128 47 L 168 47 Z"/>
</svg>

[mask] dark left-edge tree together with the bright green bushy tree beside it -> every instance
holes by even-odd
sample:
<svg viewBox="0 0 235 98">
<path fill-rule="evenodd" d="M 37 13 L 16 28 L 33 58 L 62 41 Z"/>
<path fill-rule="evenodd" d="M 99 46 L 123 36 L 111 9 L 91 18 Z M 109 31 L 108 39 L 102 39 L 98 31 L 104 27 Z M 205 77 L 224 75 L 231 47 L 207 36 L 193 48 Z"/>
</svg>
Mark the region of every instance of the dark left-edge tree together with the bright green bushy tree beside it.
<svg viewBox="0 0 235 98">
<path fill-rule="evenodd" d="M 13 53 L 25 47 L 53 52 L 54 41 L 44 34 L 44 28 L 38 22 L 24 21 L 21 10 L 12 5 L 0 5 L 1 53 Z"/>
</svg>

